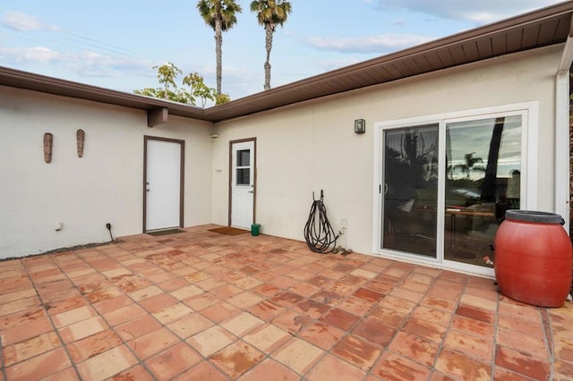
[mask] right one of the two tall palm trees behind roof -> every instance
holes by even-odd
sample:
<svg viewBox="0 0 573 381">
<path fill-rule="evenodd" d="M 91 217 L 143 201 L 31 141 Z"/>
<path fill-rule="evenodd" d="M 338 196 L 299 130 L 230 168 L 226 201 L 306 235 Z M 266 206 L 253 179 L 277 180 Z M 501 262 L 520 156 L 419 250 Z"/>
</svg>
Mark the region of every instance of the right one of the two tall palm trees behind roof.
<svg viewBox="0 0 573 381">
<path fill-rule="evenodd" d="M 283 0 L 253 0 L 251 12 L 257 13 L 257 21 L 265 29 L 265 47 L 267 48 L 267 61 L 265 61 L 265 90 L 270 89 L 270 49 L 272 49 L 272 34 L 281 27 L 292 12 L 290 2 Z"/>
</svg>

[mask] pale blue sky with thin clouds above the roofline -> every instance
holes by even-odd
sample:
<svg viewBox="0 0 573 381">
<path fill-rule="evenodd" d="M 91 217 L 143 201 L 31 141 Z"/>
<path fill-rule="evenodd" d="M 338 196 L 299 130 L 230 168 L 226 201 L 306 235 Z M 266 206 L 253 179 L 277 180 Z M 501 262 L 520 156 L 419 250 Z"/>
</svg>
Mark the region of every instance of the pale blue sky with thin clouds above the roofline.
<svg viewBox="0 0 573 381">
<path fill-rule="evenodd" d="M 223 92 L 262 91 L 264 30 L 243 13 L 223 36 Z M 292 0 L 274 34 L 271 87 L 526 13 L 551 0 Z M 0 66 L 107 89 L 158 87 L 175 63 L 215 87 L 214 32 L 196 0 L 2 0 Z"/>
</svg>

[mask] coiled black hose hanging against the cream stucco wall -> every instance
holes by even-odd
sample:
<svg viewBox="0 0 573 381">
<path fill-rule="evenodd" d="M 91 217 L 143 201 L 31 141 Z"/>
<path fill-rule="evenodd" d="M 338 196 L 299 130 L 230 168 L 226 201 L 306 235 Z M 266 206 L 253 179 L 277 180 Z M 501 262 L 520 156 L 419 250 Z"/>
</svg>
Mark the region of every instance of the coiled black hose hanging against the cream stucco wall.
<svg viewBox="0 0 573 381">
<path fill-rule="evenodd" d="M 304 240 L 309 249 L 318 253 L 329 253 L 337 247 L 338 235 L 334 233 L 324 206 L 324 192 L 321 199 L 314 199 L 312 192 L 312 207 L 308 221 L 304 225 Z"/>
</svg>

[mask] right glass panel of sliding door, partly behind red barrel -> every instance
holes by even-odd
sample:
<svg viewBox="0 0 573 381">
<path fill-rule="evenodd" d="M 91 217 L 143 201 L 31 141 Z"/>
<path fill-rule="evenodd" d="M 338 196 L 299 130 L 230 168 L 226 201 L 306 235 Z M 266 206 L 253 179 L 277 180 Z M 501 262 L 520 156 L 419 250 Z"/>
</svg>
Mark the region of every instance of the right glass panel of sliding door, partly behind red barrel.
<svg viewBox="0 0 573 381">
<path fill-rule="evenodd" d="M 492 267 L 493 239 L 520 204 L 521 115 L 446 123 L 444 258 Z"/>
</svg>

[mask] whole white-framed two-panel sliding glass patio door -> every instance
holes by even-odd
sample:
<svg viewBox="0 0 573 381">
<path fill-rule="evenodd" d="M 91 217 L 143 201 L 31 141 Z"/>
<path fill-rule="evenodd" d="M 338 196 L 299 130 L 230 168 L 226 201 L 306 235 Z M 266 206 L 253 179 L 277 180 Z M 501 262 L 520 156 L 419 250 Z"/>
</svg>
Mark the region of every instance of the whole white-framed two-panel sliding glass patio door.
<svg viewBox="0 0 573 381">
<path fill-rule="evenodd" d="M 505 212 L 525 205 L 527 115 L 381 126 L 379 250 L 492 273 L 487 267 Z"/>
</svg>

